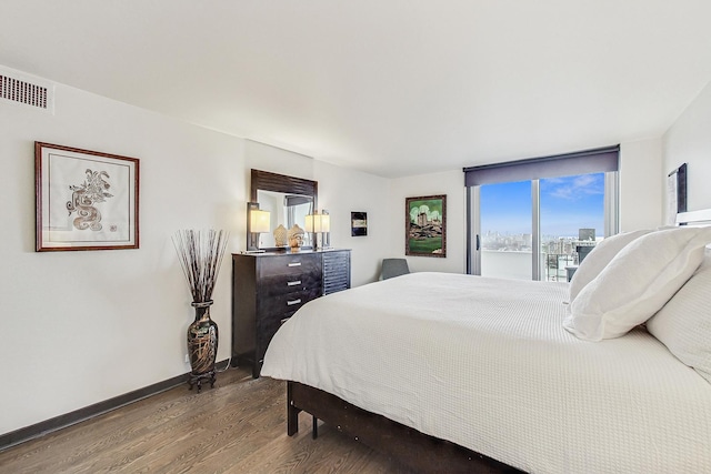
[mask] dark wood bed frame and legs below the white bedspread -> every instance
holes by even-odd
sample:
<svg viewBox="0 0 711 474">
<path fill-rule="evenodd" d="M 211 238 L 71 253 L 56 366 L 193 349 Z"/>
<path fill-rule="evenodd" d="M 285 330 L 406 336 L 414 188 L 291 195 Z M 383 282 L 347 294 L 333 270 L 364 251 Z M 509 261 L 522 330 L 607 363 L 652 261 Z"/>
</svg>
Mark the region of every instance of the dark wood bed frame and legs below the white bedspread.
<svg viewBox="0 0 711 474">
<path fill-rule="evenodd" d="M 419 472 L 445 473 L 520 473 L 491 457 L 440 440 L 384 416 L 367 412 L 336 395 L 299 382 L 287 381 L 287 434 L 299 431 L 299 413 L 322 420 L 356 441 L 379 451 Z"/>
</svg>

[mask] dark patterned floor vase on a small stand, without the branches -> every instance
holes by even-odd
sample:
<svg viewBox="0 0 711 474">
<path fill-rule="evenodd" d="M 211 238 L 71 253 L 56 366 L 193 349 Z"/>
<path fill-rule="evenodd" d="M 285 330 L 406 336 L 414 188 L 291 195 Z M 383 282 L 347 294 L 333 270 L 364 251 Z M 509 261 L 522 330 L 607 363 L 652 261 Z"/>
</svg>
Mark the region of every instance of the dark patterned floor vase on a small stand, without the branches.
<svg viewBox="0 0 711 474">
<path fill-rule="evenodd" d="M 196 309 L 196 320 L 188 326 L 188 353 L 190 355 L 190 390 L 198 385 L 202 389 L 202 381 L 209 381 L 214 387 L 214 360 L 218 355 L 218 325 L 210 319 L 212 300 L 191 303 Z"/>
</svg>

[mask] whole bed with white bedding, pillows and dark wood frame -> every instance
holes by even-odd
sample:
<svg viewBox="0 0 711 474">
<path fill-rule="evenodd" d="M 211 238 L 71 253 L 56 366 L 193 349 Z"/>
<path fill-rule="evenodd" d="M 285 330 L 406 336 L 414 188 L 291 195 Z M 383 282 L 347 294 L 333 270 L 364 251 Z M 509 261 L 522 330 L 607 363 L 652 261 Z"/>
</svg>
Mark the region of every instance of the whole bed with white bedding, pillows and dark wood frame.
<svg viewBox="0 0 711 474">
<path fill-rule="evenodd" d="M 423 472 L 711 472 L 711 233 L 680 235 L 610 238 L 574 299 L 577 276 L 422 272 L 314 300 L 262 375 L 288 381 L 289 434 L 304 411 Z M 650 248 L 658 268 L 630 264 Z M 608 315 L 630 294 L 622 334 L 589 331 L 578 306 Z"/>
</svg>

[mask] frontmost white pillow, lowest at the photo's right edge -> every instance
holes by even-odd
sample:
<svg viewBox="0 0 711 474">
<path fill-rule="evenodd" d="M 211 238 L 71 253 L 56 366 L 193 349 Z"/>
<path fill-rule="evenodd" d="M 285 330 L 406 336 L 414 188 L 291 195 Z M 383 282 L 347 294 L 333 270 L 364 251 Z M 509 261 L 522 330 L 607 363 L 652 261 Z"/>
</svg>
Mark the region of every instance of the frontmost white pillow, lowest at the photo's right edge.
<svg viewBox="0 0 711 474">
<path fill-rule="evenodd" d="M 711 383 L 711 251 L 699 270 L 647 322 L 647 330 Z"/>
</svg>

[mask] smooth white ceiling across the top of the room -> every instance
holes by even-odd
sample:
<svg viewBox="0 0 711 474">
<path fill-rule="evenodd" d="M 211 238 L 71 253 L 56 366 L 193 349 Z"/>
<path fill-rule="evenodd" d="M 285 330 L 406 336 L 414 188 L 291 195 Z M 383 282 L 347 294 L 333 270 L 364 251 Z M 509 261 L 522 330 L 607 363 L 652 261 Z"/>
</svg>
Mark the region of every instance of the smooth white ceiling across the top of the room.
<svg viewBox="0 0 711 474">
<path fill-rule="evenodd" d="M 0 64 L 382 177 L 660 137 L 709 0 L 0 0 Z"/>
</svg>

